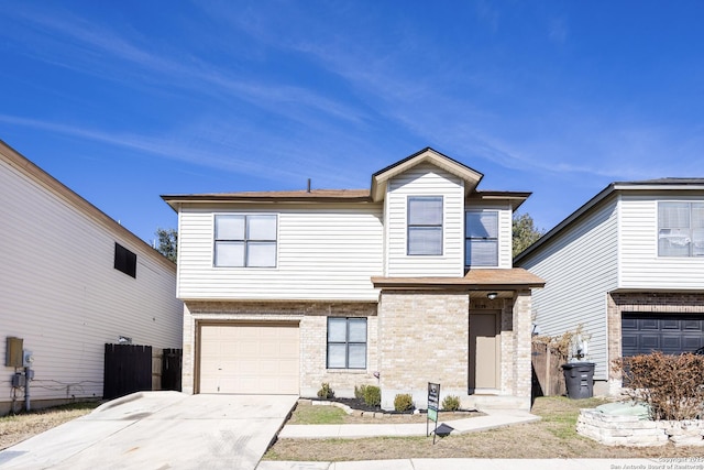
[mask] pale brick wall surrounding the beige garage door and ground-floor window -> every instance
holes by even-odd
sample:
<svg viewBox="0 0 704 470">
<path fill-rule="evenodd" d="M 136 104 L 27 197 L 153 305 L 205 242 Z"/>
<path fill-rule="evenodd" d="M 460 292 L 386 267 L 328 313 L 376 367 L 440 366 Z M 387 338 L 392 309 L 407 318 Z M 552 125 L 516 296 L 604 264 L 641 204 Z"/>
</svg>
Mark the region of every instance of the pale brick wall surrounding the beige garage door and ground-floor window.
<svg viewBox="0 0 704 470">
<path fill-rule="evenodd" d="M 316 396 L 322 382 L 338 396 L 353 396 L 354 386 L 376 385 L 378 370 L 376 303 L 330 302 L 186 302 L 184 304 L 183 391 L 195 393 L 198 321 L 296 321 L 300 328 L 300 394 Z M 327 317 L 367 318 L 366 370 L 328 370 Z"/>
</svg>

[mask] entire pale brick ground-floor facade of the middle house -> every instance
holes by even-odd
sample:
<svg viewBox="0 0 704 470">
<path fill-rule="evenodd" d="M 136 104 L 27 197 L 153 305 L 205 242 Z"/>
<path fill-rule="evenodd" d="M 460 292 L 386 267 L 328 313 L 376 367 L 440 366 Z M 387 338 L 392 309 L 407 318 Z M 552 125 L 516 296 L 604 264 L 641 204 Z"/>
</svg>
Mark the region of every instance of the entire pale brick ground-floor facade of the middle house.
<svg viewBox="0 0 704 470">
<path fill-rule="evenodd" d="M 469 395 L 469 325 L 472 311 L 499 315 L 501 386 L 491 396 Z M 366 370 L 327 369 L 327 318 L 367 318 Z M 300 328 L 300 394 L 312 397 L 322 383 L 337 396 L 354 396 L 362 384 L 382 387 L 382 405 L 398 393 L 427 406 L 427 383 L 463 406 L 530 407 L 530 291 L 490 300 L 457 291 L 383 291 L 380 303 L 186 302 L 183 391 L 195 393 L 198 324 L 293 321 Z"/>
</svg>

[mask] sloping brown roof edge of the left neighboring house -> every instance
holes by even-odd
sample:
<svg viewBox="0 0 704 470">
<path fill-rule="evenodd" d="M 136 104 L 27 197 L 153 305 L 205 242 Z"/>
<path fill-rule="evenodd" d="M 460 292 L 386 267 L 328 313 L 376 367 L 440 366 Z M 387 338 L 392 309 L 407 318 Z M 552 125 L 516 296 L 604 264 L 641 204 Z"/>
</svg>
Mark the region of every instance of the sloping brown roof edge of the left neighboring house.
<svg viewBox="0 0 704 470">
<path fill-rule="evenodd" d="M 150 255 L 152 255 L 154 260 L 157 260 L 167 269 L 176 271 L 176 264 L 174 262 L 168 260 L 158 251 L 154 250 L 144 240 L 132 233 L 130 230 L 124 228 L 102 210 L 98 209 L 88 200 L 80 197 L 68 186 L 64 185 L 62 182 L 46 173 L 44 170 L 40 168 L 37 165 L 32 163 L 29 159 L 19 153 L 16 150 L 12 149 L 2 140 L 0 140 L 0 161 L 6 162 L 12 168 L 24 175 L 26 178 L 31 179 L 34 184 L 52 193 L 54 197 L 64 200 L 69 207 L 73 207 L 74 209 L 82 214 L 86 218 L 95 221 L 99 226 L 102 226 L 110 232 L 124 237 L 135 244 L 148 248 L 148 250 L 144 251 L 146 253 L 150 253 Z"/>
</svg>

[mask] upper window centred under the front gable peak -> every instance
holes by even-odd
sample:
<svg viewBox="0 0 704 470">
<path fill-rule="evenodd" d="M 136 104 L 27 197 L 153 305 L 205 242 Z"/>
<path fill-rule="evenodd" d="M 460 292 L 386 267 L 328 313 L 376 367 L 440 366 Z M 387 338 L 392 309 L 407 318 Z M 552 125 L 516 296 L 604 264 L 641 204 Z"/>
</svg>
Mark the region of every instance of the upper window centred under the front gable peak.
<svg viewBox="0 0 704 470">
<path fill-rule="evenodd" d="M 408 198 L 408 254 L 442 254 L 442 196 Z"/>
</svg>

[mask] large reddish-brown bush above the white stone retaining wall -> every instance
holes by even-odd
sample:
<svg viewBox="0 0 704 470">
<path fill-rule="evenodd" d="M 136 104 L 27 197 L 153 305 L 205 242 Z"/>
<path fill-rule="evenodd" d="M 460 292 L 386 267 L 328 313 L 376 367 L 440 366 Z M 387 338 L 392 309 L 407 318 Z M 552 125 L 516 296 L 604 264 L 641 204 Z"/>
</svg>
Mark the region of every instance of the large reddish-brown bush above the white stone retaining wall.
<svg viewBox="0 0 704 470">
<path fill-rule="evenodd" d="M 613 369 L 622 373 L 626 394 L 648 405 L 652 419 L 695 419 L 702 415 L 703 356 L 656 351 L 617 359 Z"/>
</svg>

